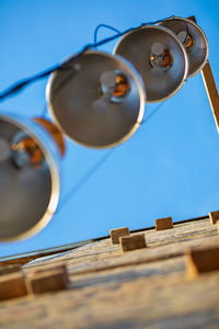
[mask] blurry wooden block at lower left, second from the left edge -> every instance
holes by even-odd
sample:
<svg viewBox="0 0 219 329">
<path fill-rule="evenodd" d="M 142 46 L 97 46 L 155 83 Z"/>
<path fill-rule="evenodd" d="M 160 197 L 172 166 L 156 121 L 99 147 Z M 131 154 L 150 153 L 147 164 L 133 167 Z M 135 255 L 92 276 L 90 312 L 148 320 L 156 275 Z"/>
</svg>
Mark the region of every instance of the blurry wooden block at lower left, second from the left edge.
<svg viewBox="0 0 219 329">
<path fill-rule="evenodd" d="M 62 270 L 42 271 L 27 277 L 28 294 L 43 294 L 66 290 L 68 281 Z"/>
</svg>

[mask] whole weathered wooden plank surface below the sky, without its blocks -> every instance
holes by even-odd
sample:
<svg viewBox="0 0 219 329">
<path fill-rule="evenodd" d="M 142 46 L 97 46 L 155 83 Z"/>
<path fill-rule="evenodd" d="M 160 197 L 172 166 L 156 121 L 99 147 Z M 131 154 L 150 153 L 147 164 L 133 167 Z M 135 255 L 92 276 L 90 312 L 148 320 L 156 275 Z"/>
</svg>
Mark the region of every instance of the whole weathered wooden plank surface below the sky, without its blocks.
<svg viewBox="0 0 219 329">
<path fill-rule="evenodd" d="M 69 290 L 0 303 L 0 328 L 219 328 L 219 271 L 188 280 L 183 256 L 219 245 L 217 227 L 198 220 L 147 231 L 146 240 L 127 253 L 106 239 L 24 265 L 27 274 L 66 263 Z"/>
</svg>

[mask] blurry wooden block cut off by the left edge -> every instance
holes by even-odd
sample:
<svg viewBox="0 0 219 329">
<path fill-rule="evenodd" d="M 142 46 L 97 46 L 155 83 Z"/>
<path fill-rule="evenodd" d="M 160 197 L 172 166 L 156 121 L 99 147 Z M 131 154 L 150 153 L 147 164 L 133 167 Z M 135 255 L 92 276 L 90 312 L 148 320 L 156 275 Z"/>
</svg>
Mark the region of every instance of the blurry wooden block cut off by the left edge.
<svg viewBox="0 0 219 329">
<path fill-rule="evenodd" d="M 26 282 L 23 273 L 13 273 L 0 277 L 0 300 L 26 295 Z"/>
</svg>

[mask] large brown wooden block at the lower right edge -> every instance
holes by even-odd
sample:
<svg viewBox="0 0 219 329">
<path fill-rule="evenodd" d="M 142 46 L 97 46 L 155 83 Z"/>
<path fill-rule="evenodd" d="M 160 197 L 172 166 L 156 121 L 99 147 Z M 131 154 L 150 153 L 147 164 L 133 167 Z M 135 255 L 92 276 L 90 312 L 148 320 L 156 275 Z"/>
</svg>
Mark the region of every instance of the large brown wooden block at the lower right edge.
<svg viewBox="0 0 219 329">
<path fill-rule="evenodd" d="M 191 279 L 201 273 L 219 270 L 219 246 L 188 250 L 186 270 Z"/>
</svg>

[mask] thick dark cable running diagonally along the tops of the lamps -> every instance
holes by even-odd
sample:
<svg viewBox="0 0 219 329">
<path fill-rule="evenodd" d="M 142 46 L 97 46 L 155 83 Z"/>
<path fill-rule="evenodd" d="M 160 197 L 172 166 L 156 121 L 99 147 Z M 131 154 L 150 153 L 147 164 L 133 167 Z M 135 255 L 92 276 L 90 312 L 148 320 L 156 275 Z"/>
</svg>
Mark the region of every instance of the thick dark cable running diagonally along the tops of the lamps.
<svg viewBox="0 0 219 329">
<path fill-rule="evenodd" d="M 171 16 L 171 18 L 173 18 L 173 16 Z M 166 18 L 166 19 L 168 19 L 168 18 Z M 157 24 L 157 23 L 159 23 L 159 22 L 161 22 L 161 21 L 163 21 L 163 20 L 166 20 L 166 19 L 162 19 L 162 20 L 159 20 L 159 21 L 155 21 L 155 22 L 150 22 L 150 23 L 142 23 L 142 24 L 140 24 L 140 25 L 137 26 L 137 27 L 129 27 L 129 29 L 127 29 L 127 30 L 125 30 L 125 31 L 123 31 L 123 32 L 119 32 L 119 33 L 117 33 L 117 34 L 115 34 L 115 35 L 113 35 L 113 36 L 106 37 L 106 38 L 104 38 L 104 39 L 102 39 L 102 41 L 100 41 L 100 42 L 96 42 L 96 43 L 93 43 L 93 44 L 87 44 L 85 46 L 82 47 L 82 49 L 81 49 L 79 53 L 72 55 L 69 59 L 67 59 L 67 60 L 64 61 L 62 64 L 57 64 L 57 65 L 55 65 L 55 66 L 53 66 L 53 67 L 50 67 L 50 68 L 48 68 L 48 69 L 46 69 L 46 70 L 44 70 L 44 71 L 42 71 L 42 72 L 39 72 L 39 73 L 36 73 L 36 75 L 34 75 L 34 76 L 32 76 L 32 77 L 30 77 L 30 78 L 26 78 L 26 79 L 23 79 L 23 80 L 20 80 L 20 81 L 18 81 L 18 82 L 13 83 L 12 86 L 10 86 L 9 88 L 7 88 L 4 91 L 2 91 L 2 92 L 0 93 L 0 101 L 2 101 L 2 100 L 4 100 L 4 99 L 7 99 L 7 98 L 9 98 L 9 97 L 11 97 L 11 95 L 13 95 L 13 94 L 20 92 L 20 91 L 22 91 L 25 87 L 27 87 L 28 84 L 31 84 L 31 83 L 33 83 L 33 82 L 35 82 L 35 81 L 48 77 L 50 73 L 53 73 L 53 72 L 56 71 L 56 70 L 67 70 L 67 69 L 71 69 L 71 67 L 68 67 L 68 64 L 69 64 L 71 60 L 79 58 L 79 57 L 82 56 L 87 50 L 89 50 L 89 49 L 91 49 L 91 48 L 96 48 L 96 47 L 99 47 L 99 46 L 103 46 L 104 44 L 110 43 L 110 42 L 112 42 L 112 41 L 114 41 L 114 39 L 116 39 L 116 38 L 123 36 L 123 35 L 126 34 L 126 33 L 136 31 L 136 30 L 138 30 L 138 29 L 140 29 L 140 27 L 142 27 L 142 26 L 146 26 L 146 25 Z M 114 29 L 114 27 L 113 27 L 113 29 Z"/>
</svg>

